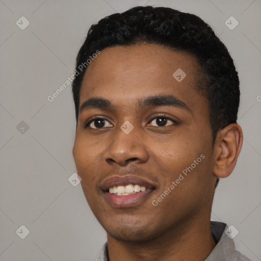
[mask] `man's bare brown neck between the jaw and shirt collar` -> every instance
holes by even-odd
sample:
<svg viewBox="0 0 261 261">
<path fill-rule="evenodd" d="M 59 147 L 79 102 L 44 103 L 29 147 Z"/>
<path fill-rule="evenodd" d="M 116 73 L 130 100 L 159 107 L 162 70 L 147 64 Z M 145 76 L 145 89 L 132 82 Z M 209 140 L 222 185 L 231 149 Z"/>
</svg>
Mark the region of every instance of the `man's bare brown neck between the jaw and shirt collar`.
<svg viewBox="0 0 261 261">
<path fill-rule="evenodd" d="M 108 234 L 109 261 L 193 260 L 203 261 L 216 246 L 210 219 L 179 224 L 160 237 L 143 241 L 119 241 Z"/>
</svg>

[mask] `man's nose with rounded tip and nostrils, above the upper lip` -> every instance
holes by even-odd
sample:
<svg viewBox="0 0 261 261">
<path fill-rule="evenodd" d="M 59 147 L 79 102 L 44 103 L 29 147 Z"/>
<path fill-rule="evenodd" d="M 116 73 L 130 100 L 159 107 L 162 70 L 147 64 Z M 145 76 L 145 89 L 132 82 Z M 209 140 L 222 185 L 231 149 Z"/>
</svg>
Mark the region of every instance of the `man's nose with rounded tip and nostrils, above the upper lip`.
<svg viewBox="0 0 261 261">
<path fill-rule="evenodd" d="M 148 149 L 135 129 L 126 134 L 119 128 L 114 141 L 103 154 L 108 164 L 125 166 L 130 162 L 145 163 L 148 161 Z"/>
</svg>

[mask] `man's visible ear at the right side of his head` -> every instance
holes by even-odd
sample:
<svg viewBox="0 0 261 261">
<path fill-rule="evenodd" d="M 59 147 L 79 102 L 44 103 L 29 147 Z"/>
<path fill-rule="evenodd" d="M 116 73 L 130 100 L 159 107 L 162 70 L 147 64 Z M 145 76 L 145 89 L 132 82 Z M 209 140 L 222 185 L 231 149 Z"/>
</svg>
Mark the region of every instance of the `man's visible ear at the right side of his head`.
<svg viewBox="0 0 261 261">
<path fill-rule="evenodd" d="M 221 129 L 215 142 L 214 174 L 227 177 L 236 166 L 243 143 L 242 128 L 232 123 Z"/>
</svg>

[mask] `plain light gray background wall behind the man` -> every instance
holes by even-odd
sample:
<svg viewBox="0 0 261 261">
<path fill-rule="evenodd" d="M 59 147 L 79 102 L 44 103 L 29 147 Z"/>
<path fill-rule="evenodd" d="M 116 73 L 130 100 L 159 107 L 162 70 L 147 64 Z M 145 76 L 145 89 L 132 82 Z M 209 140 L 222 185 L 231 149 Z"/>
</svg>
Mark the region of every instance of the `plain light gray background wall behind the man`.
<svg viewBox="0 0 261 261">
<path fill-rule="evenodd" d="M 74 72 L 90 25 L 137 5 L 199 15 L 236 63 L 244 144 L 236 169 L 220 180 L 212 219 L 236 227 L 238 250 L 261 260 L 260 0 L 0 0 L 0 260 L 95 260 L 106 241 L 81 186 L 68 181 L 76 171 L 70 86 L 53 102 L 47 96 Z M 21 16 L 30 21 L 24 30 L 16 25 Z M 234 30 L 225 25 L 230 16 L 239 21 Z M 21 121 L 29 125 L 23 133 L 18 131 Z M 21 225 L 30 230 L 25 239 L 16 234 Z"/>
</svg>

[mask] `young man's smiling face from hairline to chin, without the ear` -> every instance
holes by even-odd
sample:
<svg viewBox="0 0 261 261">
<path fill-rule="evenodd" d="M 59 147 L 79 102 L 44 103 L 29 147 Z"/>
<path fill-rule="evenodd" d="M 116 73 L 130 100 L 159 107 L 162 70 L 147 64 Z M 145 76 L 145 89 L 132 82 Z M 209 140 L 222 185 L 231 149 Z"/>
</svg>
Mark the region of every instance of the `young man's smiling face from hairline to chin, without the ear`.
<svg viewBox="0 0 261 261">
<path fill-rule="evenodd" d="M 145 241 L 209 218 L 216 177 L 198 73 L 193 56 L 154 44 L 103 49 L 87 68 L 73 156 L 108 236 Z"/>
</svg>

